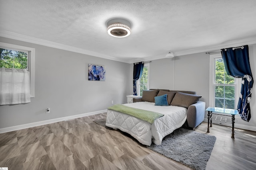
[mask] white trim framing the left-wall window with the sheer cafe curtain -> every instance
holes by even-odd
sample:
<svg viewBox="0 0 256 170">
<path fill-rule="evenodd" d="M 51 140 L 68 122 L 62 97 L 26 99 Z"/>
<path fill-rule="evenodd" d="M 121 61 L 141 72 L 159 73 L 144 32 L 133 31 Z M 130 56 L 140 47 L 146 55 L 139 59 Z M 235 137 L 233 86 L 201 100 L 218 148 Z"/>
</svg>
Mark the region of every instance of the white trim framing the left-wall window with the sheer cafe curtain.
<svg viewBox="0 0 256 170">
<path fill-rule="evenodd" d="M 26 51 L 29 53 L 29 72 L 30 72 L 30 98 L 35 97 L 35 49 L 20 45 L 8 44 L 0 42 L 0 47 L 3 49 L 12 49 L 16 51 Z"/>
</svg>

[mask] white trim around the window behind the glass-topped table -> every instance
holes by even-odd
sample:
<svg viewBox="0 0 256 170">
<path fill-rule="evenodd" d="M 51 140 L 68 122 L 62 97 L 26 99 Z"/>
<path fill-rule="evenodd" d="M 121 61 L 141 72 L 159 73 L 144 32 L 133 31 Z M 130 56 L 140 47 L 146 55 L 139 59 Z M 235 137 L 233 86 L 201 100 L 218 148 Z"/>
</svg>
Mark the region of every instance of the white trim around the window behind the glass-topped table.
<svg viewBox="0 0 256 170">
<path fill-rule="evenodd" d="M 214 100 L 214 92 L 215 92 L 215 86 L 214 86 L 214 81 L 215 81 L 215 59 L 222 58 L 221 53 L 218 54 L 210 54 L 210 75 L 209 75 L 209 106 L 214 107 L 215 106 L 215 100 Z M 241 90 L 241 83 L 242 83 L 242 78 L 235 78 L 235 106 L 238 105 L 238 100 L 239 100 L 239 94 Z M 239 115 L 236 115 L 235 118 L 240 118 Z"/>
</svg>

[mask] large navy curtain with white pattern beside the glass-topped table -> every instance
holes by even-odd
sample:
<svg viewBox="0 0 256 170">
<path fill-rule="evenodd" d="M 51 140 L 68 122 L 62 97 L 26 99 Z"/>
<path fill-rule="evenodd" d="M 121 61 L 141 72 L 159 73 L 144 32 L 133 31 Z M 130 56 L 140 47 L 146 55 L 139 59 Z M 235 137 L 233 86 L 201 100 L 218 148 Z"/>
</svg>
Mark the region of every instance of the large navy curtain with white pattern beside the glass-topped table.
<svg viewBox="0 0 256 170">
<path fill-rule="evenodd" d="M 227 74 L 236 78 L 242 77 L 241 93 L 237 110 L 241 119 L 249 121 L 251 118 L 251 90 L 254 81 L 250 67 L 248 45 L 221 49 L 221 53 Z"/>
</svg>

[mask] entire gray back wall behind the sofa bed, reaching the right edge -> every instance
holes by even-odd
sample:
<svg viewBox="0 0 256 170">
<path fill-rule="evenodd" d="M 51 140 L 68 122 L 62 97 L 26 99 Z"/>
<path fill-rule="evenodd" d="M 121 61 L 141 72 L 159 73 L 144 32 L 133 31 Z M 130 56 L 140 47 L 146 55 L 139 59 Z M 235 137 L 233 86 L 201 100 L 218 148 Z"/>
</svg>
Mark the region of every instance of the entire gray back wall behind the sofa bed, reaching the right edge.
<svg viewBox="0 0 256 170">
<path fill-rule="evenodd" d="M 250 66 L 254 80 L 256 79 L 256 44 L 249 45 Z M 173 62 L 174 59 L 153 60 L 150 63 L 150 88 L 173 89 Z M 130 64 L 130 81 L 132 81 L 133 64 Z M 196 53 L 175 57 L 174 90 L 193 90 L 202 96 L 201 101 L 209 106 L 209 74 L 210 55 Z M 235 127 L 256 131 L 256 83 L 252 88 L 250 101 L 250 122 L 236 119 Z M 132 87 L 130 88 L 132 94 Z M 207 118 L 207 114 L 205 114 Z"/>
</svg>

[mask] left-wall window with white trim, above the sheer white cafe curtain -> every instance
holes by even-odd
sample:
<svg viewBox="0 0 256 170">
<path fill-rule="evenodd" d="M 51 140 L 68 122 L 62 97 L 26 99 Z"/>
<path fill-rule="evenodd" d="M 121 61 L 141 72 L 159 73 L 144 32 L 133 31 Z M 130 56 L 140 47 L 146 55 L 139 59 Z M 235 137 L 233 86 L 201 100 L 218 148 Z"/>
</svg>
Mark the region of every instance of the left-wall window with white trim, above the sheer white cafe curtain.
<svg viewBox="0 0 256 170">
<path fill-rule="evenodd" d="M 0 68 L 16 68 L 30 71 L 30 97 L 34 98 L 35 49 L 0 42 Z"/>
</svg>

